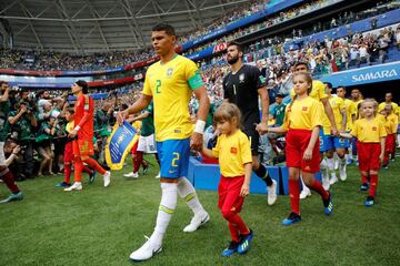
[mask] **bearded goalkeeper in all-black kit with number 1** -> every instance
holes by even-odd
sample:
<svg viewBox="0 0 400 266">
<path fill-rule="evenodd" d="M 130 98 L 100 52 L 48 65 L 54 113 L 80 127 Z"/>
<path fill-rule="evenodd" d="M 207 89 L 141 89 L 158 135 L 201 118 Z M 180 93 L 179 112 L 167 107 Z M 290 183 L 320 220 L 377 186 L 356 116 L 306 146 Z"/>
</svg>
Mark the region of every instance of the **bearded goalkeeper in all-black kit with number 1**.
<svg viewBox="0 0 400 266">
<path fill-rule="evenodd" d="M 228 44 L 227 61 L 231 72 L 223 79 L 223 98 L 234 103 L 242 113 L 243 132 L 249 136 L 252 154 L 252 170 L 263 180 L 268 190 L 268 204 L 277 201 L 277 182 L 269 175 L 266 166 L 258 158 L 259 132 L 268 127 L 269 96 L 266 78 L 258 68 L 243 64 L 243 48 L 238 42 Z M 260 123 L 259 96 L 261 99 L 262 121 Z M 259 132 L 258 132 L 259 131 Z"/>
</svg>

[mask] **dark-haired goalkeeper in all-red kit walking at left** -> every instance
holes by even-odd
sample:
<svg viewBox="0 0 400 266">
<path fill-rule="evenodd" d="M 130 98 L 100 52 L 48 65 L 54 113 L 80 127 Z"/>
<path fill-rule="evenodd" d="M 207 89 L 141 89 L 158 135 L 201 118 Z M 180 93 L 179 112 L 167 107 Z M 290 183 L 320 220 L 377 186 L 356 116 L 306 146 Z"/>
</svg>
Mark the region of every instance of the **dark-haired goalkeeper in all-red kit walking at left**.
<svg viewBox="0 0 400 266">
<path fill-rule="evenodd" d="M 74 183 L 64 188 L 64 191 L 81 191 L 82 190 L 82 168 L 83 162 L 91 168 L 99 172 L 104 180 L 104 186 L 109 186 L 111 173 L 106 171 L 100 164 L 92 157 L 94 154 L 93 150 L 93 120 L 94 120 L 94 104 L 88 93 L 88 83 L 83 80 L 79 80 L 72 84 L 72 93 L 77 98 L 74 104 L 74 129 L 69 133 L 69 137 L 74 139 L 73 141 L 73 155 L 74 155 Z"/>
</svg>

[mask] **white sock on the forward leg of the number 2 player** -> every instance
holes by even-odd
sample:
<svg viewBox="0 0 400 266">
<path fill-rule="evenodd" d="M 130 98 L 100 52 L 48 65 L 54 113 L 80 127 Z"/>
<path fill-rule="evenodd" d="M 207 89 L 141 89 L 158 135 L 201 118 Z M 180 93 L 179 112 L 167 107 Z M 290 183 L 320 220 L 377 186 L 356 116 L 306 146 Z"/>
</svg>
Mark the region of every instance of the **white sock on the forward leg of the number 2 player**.
<svg viewBox="0 0 400 266">
<path fill-rule="evenodd" d="M 161 245 L 163 235 L 171 221 L 178 201 L 178 185 L 174 183 L 161 183 L 161 203 L 157 214 L 156 228 L 150 241 L 153 244 Z"/>
</svg>

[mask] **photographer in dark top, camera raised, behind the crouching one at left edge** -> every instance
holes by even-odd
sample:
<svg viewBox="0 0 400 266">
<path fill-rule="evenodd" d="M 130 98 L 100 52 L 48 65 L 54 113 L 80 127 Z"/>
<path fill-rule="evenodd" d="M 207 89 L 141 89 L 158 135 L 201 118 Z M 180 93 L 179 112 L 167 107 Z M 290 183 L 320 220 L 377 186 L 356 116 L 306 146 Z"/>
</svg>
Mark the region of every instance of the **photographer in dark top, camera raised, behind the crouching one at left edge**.
<svg viewBox="0 0 400 266">
<path fill-rule="evenodd" d="M 38 126 L 37 119 L 32 112 L 32 109 L 28 106 L 27 102 L 20 102 L 16 104 L 16 110 L 9 114 L 9 132 L 14 140 L 23 147 L 23 167 L 19 173 L 22 177 L 33 178 L 33 141 L 32 132 L 33 127 Z M 22 165 L 21 165 L 22 166 Z"/>
</svg>

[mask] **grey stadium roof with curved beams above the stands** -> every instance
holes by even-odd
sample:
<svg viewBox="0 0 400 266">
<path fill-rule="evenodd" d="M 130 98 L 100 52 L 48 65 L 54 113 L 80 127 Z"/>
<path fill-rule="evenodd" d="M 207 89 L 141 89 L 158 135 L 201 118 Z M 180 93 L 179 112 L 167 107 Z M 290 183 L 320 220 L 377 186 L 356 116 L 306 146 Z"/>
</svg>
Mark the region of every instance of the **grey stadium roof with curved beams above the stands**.
<svg viewBox="0 0 400 266">
<path fill-rule="evenodd" d="M 210 24 L 248 0 L 1 0 L 13 47 L 69 52 L 141 49 L 152 25 L 182 34 Z"/>
</svg>

